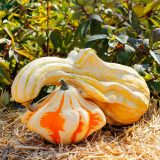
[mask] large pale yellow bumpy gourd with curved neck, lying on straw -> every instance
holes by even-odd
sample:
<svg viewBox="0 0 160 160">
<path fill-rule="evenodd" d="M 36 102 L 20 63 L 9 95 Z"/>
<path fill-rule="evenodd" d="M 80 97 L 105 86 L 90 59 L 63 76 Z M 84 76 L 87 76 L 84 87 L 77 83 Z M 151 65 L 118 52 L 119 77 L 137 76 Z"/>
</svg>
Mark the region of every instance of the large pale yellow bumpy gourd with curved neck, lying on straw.
<svg viewBox="0 0 160 160">
<path fill-rule="evenodd" d="M 103 110 L 107 123 L 136 122 L 149 106 L 149 89 L 134 69 L 104 62 L 90 48 L 72 51 L 66 59 L 43 57 L 32 61 L 16 76 L 12 96 L 20 103 L 30 101 L 43 86 L 57 84 L 62 77 Z"/>
</svg>

